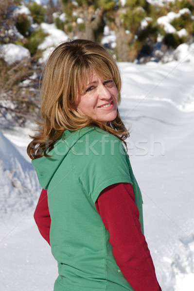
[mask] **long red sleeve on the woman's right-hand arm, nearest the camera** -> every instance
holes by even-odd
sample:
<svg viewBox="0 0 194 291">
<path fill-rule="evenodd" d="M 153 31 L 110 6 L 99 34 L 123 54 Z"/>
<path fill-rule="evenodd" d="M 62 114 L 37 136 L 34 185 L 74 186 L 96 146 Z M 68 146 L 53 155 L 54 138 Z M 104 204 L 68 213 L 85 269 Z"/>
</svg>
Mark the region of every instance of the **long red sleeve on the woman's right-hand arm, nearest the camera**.
<svg viewBox="0 0 194 291">
<path fill-rule="evenodd" d="M 132 185 L 119 183 L 101 192 L 96 210 L 108 230 L 112 253 L 135 291 L 161 291 L 145 237 Z"/>
</svg>

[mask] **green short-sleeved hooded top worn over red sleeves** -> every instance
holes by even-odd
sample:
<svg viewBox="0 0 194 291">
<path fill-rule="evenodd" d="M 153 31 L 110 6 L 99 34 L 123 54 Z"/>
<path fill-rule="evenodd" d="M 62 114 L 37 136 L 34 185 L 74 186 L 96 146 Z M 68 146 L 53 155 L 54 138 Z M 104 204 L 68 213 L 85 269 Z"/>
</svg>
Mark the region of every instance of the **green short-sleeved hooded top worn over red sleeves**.
<svg viewBox="0 0 194 291">
<path fill-rule="evenodd" d="M 33 165 L 48 194 L 50 243 L 59 272 L 54 291 L 133 291 L 95 208 L 106 187 L 131 183 L 143 232 L 141 192 L 123 144 L 102 129 L 85 127 L 65 130 L 49 155 Z"/>
</svg>

